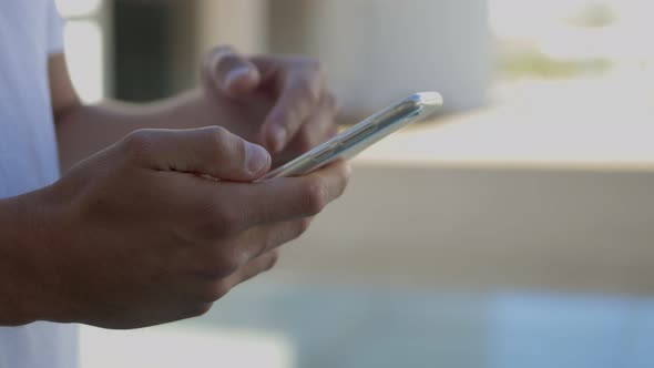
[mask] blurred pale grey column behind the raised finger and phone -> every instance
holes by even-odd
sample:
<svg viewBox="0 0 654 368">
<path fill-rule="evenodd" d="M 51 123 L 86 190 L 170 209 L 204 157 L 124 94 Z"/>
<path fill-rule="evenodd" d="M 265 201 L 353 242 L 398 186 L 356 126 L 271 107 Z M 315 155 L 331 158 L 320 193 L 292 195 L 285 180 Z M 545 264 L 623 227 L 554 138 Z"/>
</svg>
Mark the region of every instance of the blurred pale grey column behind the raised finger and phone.
<svg viewBox="0 0 654 368">
<path fill-rule="evenodd" d="M 273 45 L 317 55 L 346 113 L 417 91 L 448 110 L 486 99 L 492 70 L 487 0 L 278 0 Z"/>
</svg>

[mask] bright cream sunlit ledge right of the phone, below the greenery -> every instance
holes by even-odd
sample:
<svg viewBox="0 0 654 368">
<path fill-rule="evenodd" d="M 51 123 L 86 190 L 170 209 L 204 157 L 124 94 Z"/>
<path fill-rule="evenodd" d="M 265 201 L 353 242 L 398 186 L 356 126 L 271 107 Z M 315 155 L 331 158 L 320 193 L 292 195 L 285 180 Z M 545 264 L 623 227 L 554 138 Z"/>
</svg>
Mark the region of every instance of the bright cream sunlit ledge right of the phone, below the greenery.
<svg viewBox="0 0 654 368">
<path fill-rule="evenodd" d="M 622 78 L 514 83 L 497 104 L 413 126 L 358 160 L 654 168 L 653 95 Z"/>
</svg>

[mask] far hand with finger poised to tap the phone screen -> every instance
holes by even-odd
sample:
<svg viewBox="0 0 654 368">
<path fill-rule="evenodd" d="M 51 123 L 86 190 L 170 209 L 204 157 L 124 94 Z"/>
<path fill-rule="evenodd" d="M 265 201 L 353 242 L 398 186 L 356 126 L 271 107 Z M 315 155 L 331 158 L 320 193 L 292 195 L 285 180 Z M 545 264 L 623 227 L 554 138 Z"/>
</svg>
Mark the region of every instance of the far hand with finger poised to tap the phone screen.
<svg viewBox="0 0 654 368">
<path fill-rule="evenodd" d="M 216 124 L 266 146 L 275 164 L 336 133 L 337 102 L 317 60 L 245 58 L 222 47 L 207 57 L 202 80 Z"/>
</svg>

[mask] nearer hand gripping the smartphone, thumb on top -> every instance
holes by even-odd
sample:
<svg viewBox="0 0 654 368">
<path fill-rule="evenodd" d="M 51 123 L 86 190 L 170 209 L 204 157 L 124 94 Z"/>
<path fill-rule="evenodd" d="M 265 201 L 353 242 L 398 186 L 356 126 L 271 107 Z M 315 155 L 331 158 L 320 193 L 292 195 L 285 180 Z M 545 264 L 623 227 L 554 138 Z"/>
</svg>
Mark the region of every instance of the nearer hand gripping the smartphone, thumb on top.
<svg viewBox="0 0 654 368">
<path fill-rule="evenodd" d="M 35 301 L 23 321 L 134 328 L 204 314 L 270 268 L 348 177 L 337 163 L 253 183 L 269 165 L 222 127 L 143 130 L 28 194 L 17 203 L 31 208 L 34 243 L 9 267 L 31 274 L 21 285 L 33 294 L 17 298 Z"/>
</svg>

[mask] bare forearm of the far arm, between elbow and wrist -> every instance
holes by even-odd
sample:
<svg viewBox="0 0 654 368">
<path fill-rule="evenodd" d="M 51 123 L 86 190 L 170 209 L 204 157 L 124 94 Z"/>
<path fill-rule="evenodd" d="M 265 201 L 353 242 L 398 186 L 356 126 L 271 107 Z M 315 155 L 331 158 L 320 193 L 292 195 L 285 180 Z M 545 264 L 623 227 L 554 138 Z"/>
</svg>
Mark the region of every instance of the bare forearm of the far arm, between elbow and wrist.
<svg viewBox="0 0 654 368">
<path fill-rule="evenodd" d="M 193 129 L 215 125 L 202 92 L 191 91 L 150 104 L 104 102 L 79 105 L 57 119 L 61 167 L 72 165 L 140 129 Z"/>
</svg>

